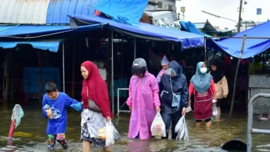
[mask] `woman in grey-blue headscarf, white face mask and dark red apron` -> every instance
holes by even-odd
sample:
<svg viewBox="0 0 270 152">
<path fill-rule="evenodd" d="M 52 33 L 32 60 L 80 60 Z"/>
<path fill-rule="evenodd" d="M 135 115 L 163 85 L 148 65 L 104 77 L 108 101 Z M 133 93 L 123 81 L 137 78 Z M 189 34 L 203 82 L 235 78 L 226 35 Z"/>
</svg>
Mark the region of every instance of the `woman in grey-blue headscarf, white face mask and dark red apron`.
<svg viewBox="0 0 270 152">
<path fill-rule="evenodd" d="M 202 61 L 199 62 L 196 74 L 190 80 L 188 90 L 190 95 L 194 94 L 194 116 L 197 126 L 201 126 L 201 121 L 205 120 L 206 127 L 210 127 L 213 115 L 213 99 L 216 99 L 216 92 L 213 77 L 206 71 L 206 64 Z M 191 104 L 190 99 L 188 104 Z"/>
</svg>

